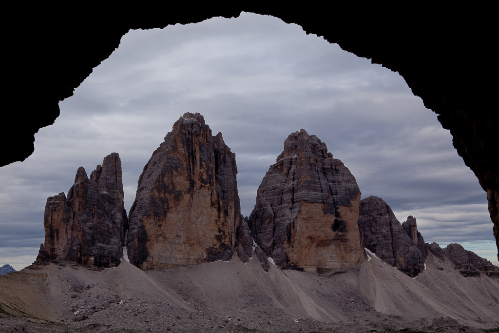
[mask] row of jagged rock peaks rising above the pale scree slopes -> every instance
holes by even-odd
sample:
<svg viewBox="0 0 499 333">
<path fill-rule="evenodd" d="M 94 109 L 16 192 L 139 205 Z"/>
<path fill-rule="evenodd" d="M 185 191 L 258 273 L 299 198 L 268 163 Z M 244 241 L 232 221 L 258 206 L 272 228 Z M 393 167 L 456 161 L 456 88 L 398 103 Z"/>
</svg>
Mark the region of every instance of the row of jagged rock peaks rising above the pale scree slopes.
<svg viewBox="0 0 499 333">
<path fill-rule="evenodd" d="M 431 251 L 464 276 L 497 278 L 489 261 L 452 244 L 425 244 L 416 218 L 402 225 L 383 199 L 360 200 L 355 177 L 304 129 L 291 133 L 269 167 L 248 218 L 241 215 L 236 156 L 199 113 L 185 113 L 152 154 L 127 217 L 118 153 L 87 176 L 80 167 L 68 191 L 47 199 L 45 243 L 36 262 L 120 265 L 123 248 L 141 269 L 169 269 L 256 251 L 281 269 L 324 274 L 355 267 L 367 248 L 415 278 Z M 125 235 L 127 238 L 125 240 Z"/>
</svg>

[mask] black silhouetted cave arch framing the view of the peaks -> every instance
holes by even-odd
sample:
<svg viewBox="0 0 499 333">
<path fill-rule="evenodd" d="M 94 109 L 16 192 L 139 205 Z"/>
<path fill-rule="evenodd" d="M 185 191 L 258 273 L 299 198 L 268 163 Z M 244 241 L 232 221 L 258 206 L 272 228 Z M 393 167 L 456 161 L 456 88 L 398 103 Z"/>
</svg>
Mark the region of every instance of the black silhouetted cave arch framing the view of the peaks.
<svg viewBox="0 0 499 333">
<path fill-rule="evenodd" d="M 34 133 L 54 122 L 58 102 L 72 95 L 129 29 L 237 17 L 244 10 L 299 24 L 307 33 L 399 72 L 425 106 L 439 115 L 442 126 L 450 129 L 458 154 L 487 192 L 499 248 L 499 117 L 491 107 L 496 94 L 490 84 L 497 72 L 493 11 L 416 3 L 410 12 L 380 4 L 339 3 L 330 10 L 317 4 L 258 2 L 176 3 L 176 9 L 168 11 L 139 3 L 110 9 L 70 4 L 57 8 L 46 3 L 11 6 L 5 11 L 17 23 L 4 34 L 9 64 L 4 71 L 5 95 L 22 103 L 6 108 L 4 121 L 12 131 L 1 134 L 8 144 L 0 165 L 22 161 L 33 152 Z"/>
</svg>

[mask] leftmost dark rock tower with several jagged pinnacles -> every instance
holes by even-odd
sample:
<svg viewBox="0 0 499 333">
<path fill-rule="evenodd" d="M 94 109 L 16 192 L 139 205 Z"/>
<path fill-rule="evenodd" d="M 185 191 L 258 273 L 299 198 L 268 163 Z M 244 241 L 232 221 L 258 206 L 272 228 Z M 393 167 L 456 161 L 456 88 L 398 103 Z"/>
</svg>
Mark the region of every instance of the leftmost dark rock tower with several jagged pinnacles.
<svg viewBox="0 0 499 333">
<path fill-rule="evenodd" d="M 45 243 L 36 262 L 71 261 L 88 267 L 113 267 L 123 255 L 127 217 L 123 204 L 121 160 L 104 158 L 90 179 L 78 168 L 67 198 L 49 197 L 43 225 Z"/>
</svg>

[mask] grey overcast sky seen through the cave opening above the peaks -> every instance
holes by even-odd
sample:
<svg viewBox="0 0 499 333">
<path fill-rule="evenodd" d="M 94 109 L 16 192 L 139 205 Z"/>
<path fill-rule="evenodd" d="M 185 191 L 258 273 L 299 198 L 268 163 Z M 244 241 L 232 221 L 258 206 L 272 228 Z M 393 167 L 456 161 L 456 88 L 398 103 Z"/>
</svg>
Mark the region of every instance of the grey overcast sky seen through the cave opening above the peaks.
<svg viewBox="0 0 499 333">
<path fill-rule="evenodd" d="M 0 266 L 34 261 L 46 198 L 65 192 L 118 152 L 127 211 L 152 152 L 185 112 L 200 112 L 236 153 L 242 213 L 282 151 L 304 128 L 383 198 L 426 242 L 461 243 L 496 261 L 486 193 L 449 131 L 403 78 L 301 27 L 243 13 L 165 29 L 134 30 L 62 101 L 35 152 L 0 168 Z"/>
</svg>

